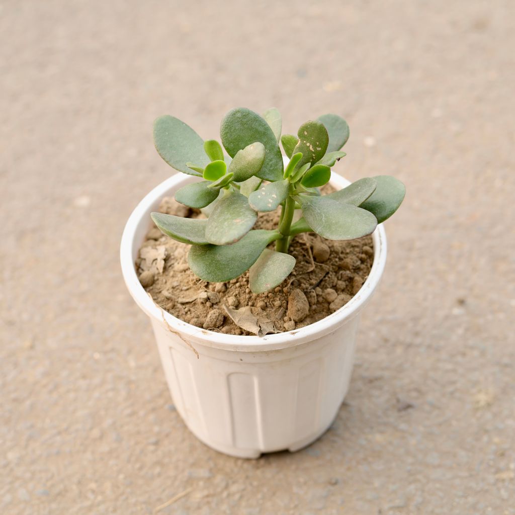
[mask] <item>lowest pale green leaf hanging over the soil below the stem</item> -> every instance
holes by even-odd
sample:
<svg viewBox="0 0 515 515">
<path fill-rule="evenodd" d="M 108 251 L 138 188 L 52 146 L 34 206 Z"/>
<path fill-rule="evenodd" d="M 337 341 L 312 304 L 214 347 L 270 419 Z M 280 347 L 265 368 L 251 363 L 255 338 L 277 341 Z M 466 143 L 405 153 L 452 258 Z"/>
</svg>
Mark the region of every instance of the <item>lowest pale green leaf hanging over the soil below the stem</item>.
<svg viewBox="0 0 515 515">
<path fill-rule="evenodd" d="M 295 258 L 284 252 L 265 249 L 249 271 L 253 294 L 263 293 L 281 284 L 295 267 Z"/>
</svg>

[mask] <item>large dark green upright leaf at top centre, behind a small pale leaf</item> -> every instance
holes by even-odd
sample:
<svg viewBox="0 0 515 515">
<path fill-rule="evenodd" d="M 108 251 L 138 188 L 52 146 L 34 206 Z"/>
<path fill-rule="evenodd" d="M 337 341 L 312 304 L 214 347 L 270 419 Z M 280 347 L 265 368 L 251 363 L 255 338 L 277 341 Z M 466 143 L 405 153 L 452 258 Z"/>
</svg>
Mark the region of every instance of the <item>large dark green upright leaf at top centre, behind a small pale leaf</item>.
<svg viewBox="0 0 515 515">
<path fill-rule="evenodd" d="M 267 181 L 279 181 L 283 177 L 283 157 L 276 136 L 258 113 L 250 109 L 236 108 L 229 111 L 220 125 L 222 144 L 232 158 L 238 150 L 258 141 L 265 146 L 265 161 L 256 174 Z"/>
</svg>

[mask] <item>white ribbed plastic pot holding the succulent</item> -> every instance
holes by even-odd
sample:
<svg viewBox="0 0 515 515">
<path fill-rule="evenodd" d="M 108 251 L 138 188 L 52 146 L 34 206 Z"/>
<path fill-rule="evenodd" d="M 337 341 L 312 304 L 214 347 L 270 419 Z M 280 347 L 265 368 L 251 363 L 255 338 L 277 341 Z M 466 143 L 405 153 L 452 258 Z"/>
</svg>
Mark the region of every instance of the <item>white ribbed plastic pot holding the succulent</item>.
<svg viewBox="0 0 515 515">
<path fill-rule="evenodd" d="M 134 268 L 151 227 L 150 212 L 164 196 L 195 180 L 170 177 L 132 212 L 121 246 L 125 283 L 150 317 L 171 396 L 199 440 L 243 458 L 297 451 L 328 429 L 349 388 L 359 315 L 385 266 L 384 229 L 379 225 L 372 234 L 374 262 L 363 287 L 323 320 L 264 337 L 205 331 L 161 310 Z M 349 184 L 334 172 L 331 183 L 338 189 Z"/>
</svg>

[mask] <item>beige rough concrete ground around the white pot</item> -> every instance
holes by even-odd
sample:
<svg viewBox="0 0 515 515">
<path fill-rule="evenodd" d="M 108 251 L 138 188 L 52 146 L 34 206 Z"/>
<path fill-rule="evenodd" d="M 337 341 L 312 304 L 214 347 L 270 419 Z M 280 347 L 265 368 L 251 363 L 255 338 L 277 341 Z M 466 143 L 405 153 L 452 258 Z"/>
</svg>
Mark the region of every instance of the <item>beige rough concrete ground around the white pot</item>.
<svg viewBox="0 0 515 515">
<path fill-rule="evenodd" d="M 514 7 L 1 2 L 0 513 L 515 513 Z M 118 263 L 153 119 L 234 106 L 407 186 L 334 426 L 257 461 L 184 427 Z"/>
</svg>

